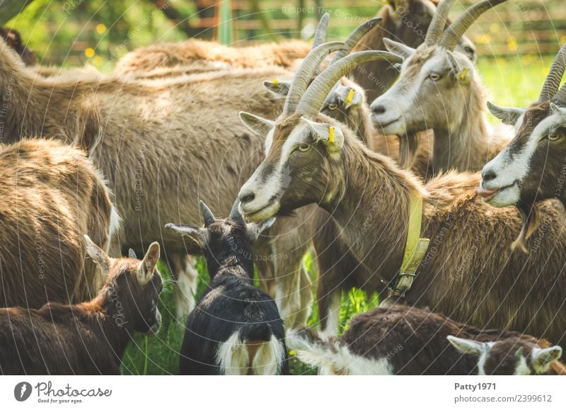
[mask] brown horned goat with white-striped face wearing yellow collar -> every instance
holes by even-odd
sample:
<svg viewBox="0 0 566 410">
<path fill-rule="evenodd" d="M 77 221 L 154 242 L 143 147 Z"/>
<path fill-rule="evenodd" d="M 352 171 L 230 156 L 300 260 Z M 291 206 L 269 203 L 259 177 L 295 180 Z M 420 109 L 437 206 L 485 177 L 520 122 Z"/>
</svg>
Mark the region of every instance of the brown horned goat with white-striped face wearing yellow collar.
<svg viewBox="0 0 566 410">
<path fill-rule="evenodd" d="M 478 174 L 449 172 L 423 185 L 391 159 L 369 151 L 345 125 L 319 113 L 345 73 L 383 58 L 396 62 L 388 53 L 359 52 L 328 67 L 308 88 L 294 84 L 296 94 L 289 93 L 275 123 L 241 115 L 250 127 L 265 125 L 267 151 L 238 195 L 243 214 L 260 222 L 318 204 L 342 229 L 345 244 L 368 273 L 357 280 L 372 291 L 382 279 L 396 282 L 410 203 L 420 198 L 422 237 L 430 246 L 405 292 L 408 304 L 434 307 L 476 326 L 566 343 L 560 293 L 566 285 L 566 221 L 560 207 L 538 205 L 547 229 L 536 237 L 536 252 L 514 252 L 509 244 L 521 229 L 521 216 L 483 203 L 475 193 Z"/>
</svg>

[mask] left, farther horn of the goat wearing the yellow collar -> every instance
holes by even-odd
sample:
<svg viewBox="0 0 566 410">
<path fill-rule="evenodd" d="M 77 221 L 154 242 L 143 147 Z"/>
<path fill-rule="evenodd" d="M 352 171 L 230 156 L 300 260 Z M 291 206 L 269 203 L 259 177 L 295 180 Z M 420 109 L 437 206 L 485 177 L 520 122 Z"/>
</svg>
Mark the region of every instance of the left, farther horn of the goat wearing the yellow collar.
<svg viewBox="0 0 566 410">
<path fill-rule="evenodd" d="M 303 62 L 301 62 L 301 67 L 297 70 L 293 82 L 289 87 L 289 93 L 287 94 L 287 100 L 285 100 L 285 106 L 283 108 L 283 115 L 291 115 L 295 112 L 297 104 L 301 101 L 301 96 L 308 87 L 308 83 L 313 78 L 313 74 L 316 72 L 316 69 L 323 59 L 331 52 L 345 50 L 345 47 L 346 45 L 343 42 L 331 41 L 319 45 L 308 53 Z"/>
</svg>

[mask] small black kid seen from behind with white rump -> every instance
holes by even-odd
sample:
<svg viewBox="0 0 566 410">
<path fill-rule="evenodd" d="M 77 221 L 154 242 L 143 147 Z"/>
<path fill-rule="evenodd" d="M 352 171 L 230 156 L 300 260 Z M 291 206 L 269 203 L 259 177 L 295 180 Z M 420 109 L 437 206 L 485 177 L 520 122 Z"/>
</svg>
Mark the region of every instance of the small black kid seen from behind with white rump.
<svg viewBox="0 0 566 410">
<path fill-rule="evenodd" d="M 246 224 L 238 200 L 216 220 L 200 202 L 204 227 L 167 224 L 204 252 L 210 284 L 187 320 L 180 352 L 183 375 L 289 373 L 283 321 L 272 298 L 253 285 L 252 246 L 275 219 Z"/>
</svg>

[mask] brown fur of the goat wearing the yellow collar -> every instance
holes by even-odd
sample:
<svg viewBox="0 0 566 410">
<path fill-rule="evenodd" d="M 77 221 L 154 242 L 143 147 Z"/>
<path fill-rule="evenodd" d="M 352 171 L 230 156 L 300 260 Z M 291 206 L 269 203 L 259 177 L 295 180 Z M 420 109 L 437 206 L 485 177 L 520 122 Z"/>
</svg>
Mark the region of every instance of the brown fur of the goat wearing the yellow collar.
<svg viewBox="0 0 566 410">
<path fill-rule="evenodd" d="M 359 278 L 364 289 L 379 289 L 381 278 L 386 283 L 395 280 L 405 248 L 410 195 L 419 193 L 424 197 L 422 237 L 431 242 L 407 302 L 475 326 L 566 343 L 560 293 L 566 286 L 566 220 L 560 205 L 538 205 L 545 229 L 538 229 L 529 241 L 529 256 L 511 251 L 521 216 L 515 209 L 483 203 L 475 195 L 479 175 L 447 173 L 423 186 L 391 159 L 370 152 L 344 125 L 322 115 L 318 120 L 344 132 L 340 159 L 316 143 L 316 149 L 290 161 L 294 178 L 279 200 L 279 212 L 318 203 L 332 213 L 345 243 L 371 272 Z M 287 126 L 282 132 L 275 130 L 262 170 L 277 159 L 277 147 L 289 135 L 289 121 L 296 122 L 295 115 L 283 120 Z M 267 178 L 262 171 L 257 175 Z"/>
</svg>

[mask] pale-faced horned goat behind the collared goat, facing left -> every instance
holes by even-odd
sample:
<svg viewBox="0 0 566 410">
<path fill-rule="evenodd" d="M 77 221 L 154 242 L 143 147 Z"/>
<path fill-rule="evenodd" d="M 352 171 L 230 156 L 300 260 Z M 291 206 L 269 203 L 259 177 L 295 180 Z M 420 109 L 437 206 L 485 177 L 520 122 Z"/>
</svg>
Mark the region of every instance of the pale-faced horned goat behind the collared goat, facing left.
<svg viewBox="0 0 566 410">
<path fill-rule="evenodd" d="M 506 0 L 480 1 L 444 30 L 452 1 L 440 2 L 424 43 L 416 50 L 384 40 L 404 62 L 398 81 L 370 106 L 374 124 L 385 134 L 412 138 L 416 132 L 434 130 L 434 173 L 453 168 L 479 171 L 509 142 L 508 130 L 494 132 L 487 123 L 485 90 L 473 64 L 452 51 L 481 13 Z M 417 142 L 409 146 L 412 156 Z"/>
</svg>

